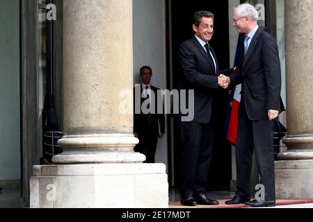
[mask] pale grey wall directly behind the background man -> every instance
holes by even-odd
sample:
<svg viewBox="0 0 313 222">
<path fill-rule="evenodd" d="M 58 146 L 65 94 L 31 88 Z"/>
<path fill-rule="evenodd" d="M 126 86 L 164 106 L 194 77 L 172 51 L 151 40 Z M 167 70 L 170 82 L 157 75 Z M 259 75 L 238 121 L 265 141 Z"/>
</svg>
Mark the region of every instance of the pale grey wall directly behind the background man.
<svg viewBox="0 0 313 222">
<path fill-rule="evenodd" d="M 166 89 L 166 3 L 164 0 L 133 1 L 134 84 L 140 83 L 144 65 L 153 71 L 152 85 Z M 156 162 L 168 164 L 168 133 L 159 139 Z M 167 168 L 167 167 L 166 167 Z"/>
</svg>

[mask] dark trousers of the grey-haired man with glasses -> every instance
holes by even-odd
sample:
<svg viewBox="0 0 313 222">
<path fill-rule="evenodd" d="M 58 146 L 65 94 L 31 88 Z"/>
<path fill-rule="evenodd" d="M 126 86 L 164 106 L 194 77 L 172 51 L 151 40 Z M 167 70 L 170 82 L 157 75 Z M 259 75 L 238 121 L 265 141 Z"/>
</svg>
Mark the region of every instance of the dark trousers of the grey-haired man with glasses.
<svg viewBox="0 0 313 222">
<path fill-rule="evenodd" d="M 273 122 L 268 119 L 250 121 L 245 105 L 241 103 L 236 144 L 236 194 L 238 196 L 251 194 L 250 174 L 253 151 L 255 151 L 257 169 L 261 176 L 260 184 L 264 185 L 265 197 L 263 198 L 275 200 Z"/>
</svg>

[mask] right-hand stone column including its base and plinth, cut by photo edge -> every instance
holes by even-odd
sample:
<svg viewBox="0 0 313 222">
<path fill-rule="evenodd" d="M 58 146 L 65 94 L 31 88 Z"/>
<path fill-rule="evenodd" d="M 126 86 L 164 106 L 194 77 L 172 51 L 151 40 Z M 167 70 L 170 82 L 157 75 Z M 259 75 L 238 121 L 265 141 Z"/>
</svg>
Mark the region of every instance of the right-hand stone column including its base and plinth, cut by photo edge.
<svg viewBox="0 0 313 222">
<path fill-rule="evenodd" d="M 275 163 L 278 198 L 313 198 L 313 1 L 285 1 L 288 150 Z"/>
</svg>

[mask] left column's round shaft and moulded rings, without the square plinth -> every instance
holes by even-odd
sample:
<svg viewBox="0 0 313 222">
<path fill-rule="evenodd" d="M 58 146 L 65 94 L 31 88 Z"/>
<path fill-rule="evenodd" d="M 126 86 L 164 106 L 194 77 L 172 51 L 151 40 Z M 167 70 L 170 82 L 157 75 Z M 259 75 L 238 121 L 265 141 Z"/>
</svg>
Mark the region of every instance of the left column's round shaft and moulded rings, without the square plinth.
<svg viewBox="0 0 313 222">
<path fill-rule="evenodd" d="M 143 162 L 134 153 L 132 1 L 63 1 L 64 152 L 56 164 Z"/>
</svg>

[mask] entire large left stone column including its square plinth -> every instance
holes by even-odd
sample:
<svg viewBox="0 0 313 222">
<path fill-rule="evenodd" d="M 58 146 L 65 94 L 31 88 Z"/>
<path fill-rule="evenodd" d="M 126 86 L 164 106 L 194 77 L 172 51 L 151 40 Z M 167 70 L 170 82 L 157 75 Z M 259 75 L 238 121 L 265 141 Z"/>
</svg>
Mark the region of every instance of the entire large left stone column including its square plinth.
<svg viewBox="0 0 313 222">
<path fill-rule="evenodd" d="M 168 207 L 165 165 L 134 152 L 132 1 L 63 0 L 63 45 L 63 153 L 31 207 Z"/>
</svg>

